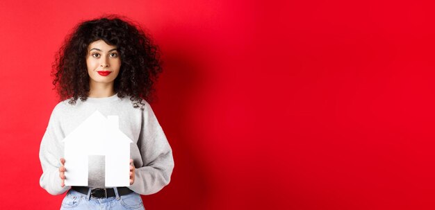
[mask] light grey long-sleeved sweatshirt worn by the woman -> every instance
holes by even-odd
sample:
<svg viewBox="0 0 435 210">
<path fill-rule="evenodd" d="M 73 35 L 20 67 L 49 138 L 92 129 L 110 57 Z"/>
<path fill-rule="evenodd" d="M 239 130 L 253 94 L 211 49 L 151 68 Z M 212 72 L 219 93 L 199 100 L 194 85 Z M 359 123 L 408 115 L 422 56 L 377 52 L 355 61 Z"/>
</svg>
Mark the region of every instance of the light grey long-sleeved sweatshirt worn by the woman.
<svg viewBox="0 0 435 210">
<path fill-rule="evenodd" d="M 129 96 L 119 98 L 117 94 L 106 98 L 88 98 L 84 102 L 79 99 L 76 105 L 70 105 L 68 100 L 58 103 L 51 112 L 41 141 L 39 156 L 43 172 L 40 186 L 52 195 L 59 195 L 70 189 L 70 186 L 60 186 L 58 168 L 61 166 L 60 158 L 64 157 L 63 139 L 96 110 L 104 116 L 119 116 L 120 130 L 133 141 L 130 144 L 130 156 L 136 167 L 136 177 L 129 189 L 149 195 L 169 184 L 174 168 L 172 148 L 151 106 L 145 100 L 142 103 L 145 103 L 145 110 L 134 108 Z M 99 182 L 104 180 L 101 161 L 90 161 L 89 170 L 90 174 L 92 171 L 89 186 L 104 188 Z"/>
</svg>

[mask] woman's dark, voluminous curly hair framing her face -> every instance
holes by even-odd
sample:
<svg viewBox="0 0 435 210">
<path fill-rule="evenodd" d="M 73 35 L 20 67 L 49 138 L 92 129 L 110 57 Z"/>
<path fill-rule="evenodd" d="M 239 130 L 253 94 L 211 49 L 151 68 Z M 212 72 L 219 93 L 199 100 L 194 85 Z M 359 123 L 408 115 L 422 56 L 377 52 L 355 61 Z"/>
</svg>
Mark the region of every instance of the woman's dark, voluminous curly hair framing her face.
<svg viewBox="0 0 435 210">
<path fill-rule="evenodd" d="M 105 15 L 98 19 L 82 21 L 67 35 L 52 65 L 53 85 L 60 100 L 69 98 L 85 101 L 90 91 L 90 77 L 85 57 L 90 43 L 103 40 L 117 47 L 120 53 L 120 73 L 114 81 L 114 91 L 120 98 L 130 96 L 133 107 L 143 110 L 142 98 L 151 101 L 154 83 L 161 73 L 158 46 L 149 35 L 131 21 L 118 15 Z"/>
</svg>

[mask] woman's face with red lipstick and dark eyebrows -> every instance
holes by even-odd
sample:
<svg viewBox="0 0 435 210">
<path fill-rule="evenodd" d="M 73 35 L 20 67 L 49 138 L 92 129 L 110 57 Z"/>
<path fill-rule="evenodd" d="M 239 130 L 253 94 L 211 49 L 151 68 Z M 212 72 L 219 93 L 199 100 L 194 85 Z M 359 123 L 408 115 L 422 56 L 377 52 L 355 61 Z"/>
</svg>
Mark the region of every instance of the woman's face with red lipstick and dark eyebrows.
<svg viewBox="0 0 435 210">
<path fill-rule="evenodd" d="M 108 45 L 103 40 L 92 42 L 88 46 L 86 65 L 90 77 L 90 87 L 93 85 L 113 85 L 120 73 L 121 58 L 116 46 Z"/>
</svg>

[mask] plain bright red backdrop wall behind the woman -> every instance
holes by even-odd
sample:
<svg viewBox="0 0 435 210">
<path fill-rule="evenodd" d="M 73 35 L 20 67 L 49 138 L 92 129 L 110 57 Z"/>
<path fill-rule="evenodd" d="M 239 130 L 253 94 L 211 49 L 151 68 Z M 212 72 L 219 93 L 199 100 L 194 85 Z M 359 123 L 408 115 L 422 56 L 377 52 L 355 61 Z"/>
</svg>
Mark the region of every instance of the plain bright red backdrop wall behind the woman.
<svg viewBox="0 0 435 210">
<path fill-rule="evenodd" d="M 175 168 L 147 209 L 434 209 L 433 8 L 0 1 L 0 209 L 60 207 L 39 186 L 51 63 L 78 21 L 104 13 L 163 51 L 151 106 Z"/>
</svg>

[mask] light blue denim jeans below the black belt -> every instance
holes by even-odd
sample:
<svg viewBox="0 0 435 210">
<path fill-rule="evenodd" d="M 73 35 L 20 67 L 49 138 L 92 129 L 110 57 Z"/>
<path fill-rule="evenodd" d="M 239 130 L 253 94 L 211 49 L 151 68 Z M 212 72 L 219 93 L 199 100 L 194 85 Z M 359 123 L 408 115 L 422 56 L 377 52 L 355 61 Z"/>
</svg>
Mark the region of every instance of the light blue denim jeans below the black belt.
<svg viewBox="0 0 435 210">
<path fill-rule="evenodd" d="M 74 190 L 69 190 L 65 198 L 62 201 L 62 207 L 60 210 L 66 209 L 74 209 L 74 210 L 82 210 L 82 209 L 110 209 L 110 210 L 118 210 L 118 209 L 142 209 L 145 210 L 145 207 L 142 203 L 142 198 L 138 193 L 132 192 L 128 195 L 118 195 L 118 191 L 115 188 L 115 197 L 110 198 L 92 198 L 90 196 L 90 192 L 88 195 L 79 193 Z"/>
</svg>

